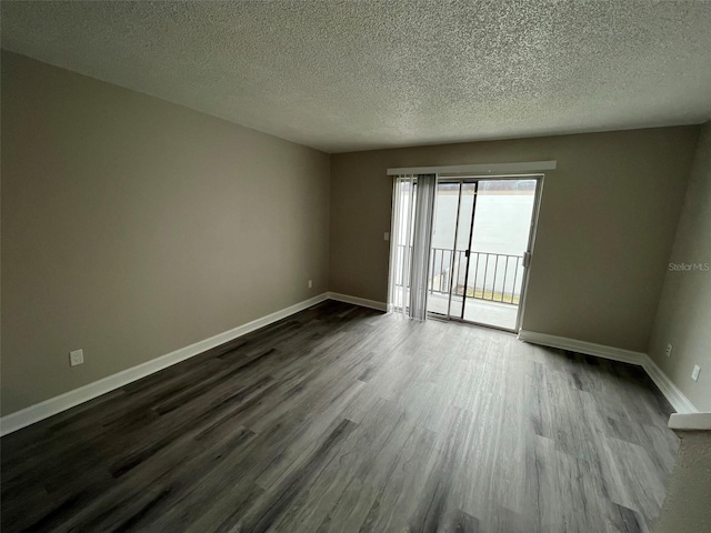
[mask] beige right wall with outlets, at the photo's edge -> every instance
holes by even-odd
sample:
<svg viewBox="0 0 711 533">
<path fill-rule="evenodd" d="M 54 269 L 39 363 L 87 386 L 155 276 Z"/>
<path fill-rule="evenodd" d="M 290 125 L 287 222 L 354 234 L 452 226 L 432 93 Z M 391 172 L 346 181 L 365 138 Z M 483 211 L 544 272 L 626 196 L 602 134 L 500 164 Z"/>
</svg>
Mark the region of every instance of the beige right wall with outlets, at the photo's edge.
<svg viewBox="0 0 711 533">
<path fill-rule="evenodd" d="M 668 270 L 649 354 L 697 409 L 711 411 L 711 122 L 699 140 L 669 263 L 702 270 Z M 695 382 L 694 364 L 701 366 Z"/>
</svg>

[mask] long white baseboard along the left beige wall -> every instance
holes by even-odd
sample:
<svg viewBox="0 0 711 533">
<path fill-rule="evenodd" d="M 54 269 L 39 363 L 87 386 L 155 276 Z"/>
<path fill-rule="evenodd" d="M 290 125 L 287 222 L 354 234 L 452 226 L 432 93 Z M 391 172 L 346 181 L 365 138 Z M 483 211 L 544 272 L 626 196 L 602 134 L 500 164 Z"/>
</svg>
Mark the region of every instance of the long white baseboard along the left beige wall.
<svg viewBox="0 0 711 533">
<path fill-rule="evenodd" d="M 93 383 L 89 383 L 88 385 L 74 389 L 73 391 L 60 394 L 59 396 L 50 398 L 49 400 L 30 405 L 29 408 L 8 414 L 7 416 L 2 416 L 2 419 L 0 419 L 0 436 L 26 428 L 39 422 L 40 420 L 48 419 L 49 416 L 71 409 L 80 403 L 92 400 L 106 394 L 107 392 L 111 392 L 133 381 L 140 380 L 141 378 L 146 378 L 147 375 L 184 361 L 186 359 L 193 358 L 207 350 L 224 344 L 238 336 L 246 335 L 247 333 L 259 330 L 260 328 L 274 323 L 281 319 L 286 319 L 287 316 L 298 313 L 299 311 L 303 311 L 304 309 L 309 309 L 328 299 L 329 293 L 310 298 L 309 300 L 304 300 L 303 302 L 299 302 L 289 308 L 268 314 L 267 316 L 253 320 L 247 324 L 239 325 L 203 341 L 196 342 L 189 346 L 181 348 L 174 352 L 152 359 L 146 363 L 141 363 L 99 381 L 94 381 Z"/>
</svg>

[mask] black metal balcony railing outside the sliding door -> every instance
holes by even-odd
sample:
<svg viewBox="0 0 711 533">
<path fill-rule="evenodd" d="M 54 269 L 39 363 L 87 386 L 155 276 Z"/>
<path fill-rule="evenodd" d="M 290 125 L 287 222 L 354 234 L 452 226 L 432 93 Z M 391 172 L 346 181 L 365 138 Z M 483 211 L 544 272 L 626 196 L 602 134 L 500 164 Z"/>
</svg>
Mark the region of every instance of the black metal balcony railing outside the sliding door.
<svg viewBox="0 0 711 533">
<path fill-rule="evenodd" d="M 398 264 L 405 259 L 405 247 L 398 247 Z M 408 253 L 411 252 L 410 247 Z M 401 271 L 401 269 L 398 269 Z M 430 253 L 430 294 L 452 294 L 491 302 L 519 304 L 523 280 L 523 257 L 509 253 L 469 252 L 467 273 L 467 251 L 432 248 Z M 402 285 L 402 280 L 397 280 Z"/>
</svg>

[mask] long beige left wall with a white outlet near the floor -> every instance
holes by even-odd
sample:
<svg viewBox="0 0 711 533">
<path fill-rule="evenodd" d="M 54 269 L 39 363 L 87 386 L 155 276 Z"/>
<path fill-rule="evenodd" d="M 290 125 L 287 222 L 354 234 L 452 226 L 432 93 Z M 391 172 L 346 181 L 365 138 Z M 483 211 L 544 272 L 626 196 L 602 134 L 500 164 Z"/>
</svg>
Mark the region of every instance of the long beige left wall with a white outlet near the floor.
<svg viewBox="0 0 711 533">
<path fill-rule="evenodd" d="M 3 414 L 328 290 L 322 152 L 3 52 L 2 174 Z"/>
</svg>

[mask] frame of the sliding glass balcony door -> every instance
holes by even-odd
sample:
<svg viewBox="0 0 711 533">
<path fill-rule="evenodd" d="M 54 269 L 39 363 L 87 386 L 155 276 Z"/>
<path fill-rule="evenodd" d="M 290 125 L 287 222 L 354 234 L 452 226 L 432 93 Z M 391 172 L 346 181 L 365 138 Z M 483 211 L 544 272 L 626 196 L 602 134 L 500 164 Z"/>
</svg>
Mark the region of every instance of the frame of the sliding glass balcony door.
<svg viewBox="0 0 711 533">
<path fill-rule="evenodd" d="M 457 318 L 457 316 L 452 316 L 451 315 L 451 301 L 452 301 L 452 283 L 450 282 L 450 290 L 449 290 L 449 303 L 448 303 L 448 309 L 447 315 L 442 315 L 442 314 L 437 314 L 437 313 L 431 313 L 428 311 L 428 318 L 432 318 L 432 319 L 439 319 L 439 320 L 450 320 L 450 321 L 455 321 L 455 322 L 463 322 L 467 324 L 474 324 L 474 325 L 481 325 L 484 328 L 492 328 L 495 330 L 502 330 L 502 331 L 508 331 L 508 332 L 512 332 L 512 333 L 518 333 L 521 330 L 521 324 L 523 322 L 523 313 L 525 311 L 525 298 L 528 294 L 528 285 L 529 285 L 529 274 L 530 274 L 530 270 L 531 270 L 531 262 L 533 260 L 533 248 L 535 244 L 535 234 L 537 234 L 537 230 L 538 230 L 538 218 L 539 218 L 539 212 L 540 212 L 540 207 L 541 207 L 541 195 L 543 192 L 543 181 L 544 181 L 545 175 L 542 173 L 523 173 L 523 174 L 500 174 L 500 175 L 491 175 L 491 174 L 473 174 L 473 173 L 467 173 L 467 174 L 461 174 L 461 173 L 439 173 L 437 174 L 437 183 L 459 183 L 460 188 L 459 188 L 459 199 L 457 202 L 457 228 L 454 229 L 454 245 L 457 245 L 457 233 L 459 231 L 459 210 L 460 210 L 460 205 L 461 205 L 461 192 L 462 192 L 462 188 L 461 185 L 465 182 L 472 183 L 472 182 L 477 182 L 477 194 L 478 192 L 478 182 L 480 181 L 503 181 L 503 180 L 535 180 L 535 192 L 533 195 L 533 209 L 531 210 L 531 221 L 529 223 L 529 239 L 528 239 L 528 247 L 527 247 L 527 251 L 524 252 L 524 259 L 523 259 L 523 276 L 521 280 L 521 295 L 519 298 L 519 304 L 518 304 L 518 311 L 517 311 L 517 319 L 515 319 L 515 325 L 514 329 L 508 329 L 508 328 L 500 328 L 497 325 L 491 325 L 491 324 L 484 324 L 481 322 L 474 322 L 471 320 L 464 320 L 462 318 Z M 471 239 L 473 237 L 473 222 L 474 222 L 474 217 L 477 214 L 477 202 L 474 199 L 474 207 L 472 209 L 472 220 L 471 220 L 471 233 L 469 235 L 469 247 L 471 247 Z M 528 259 L 527 259 L 528 255 Z M 469 258 L 467 258 L 467 270 L 469 272 Z M 453 275 L 453 272 L 452 272 Z M 467 288 L 464 288 L 464 293 L 467 292 Z M 465 298 L 462 301 L 462 316 L 464 313 L 464 302 L 465 302 Z"/>
</svg>

